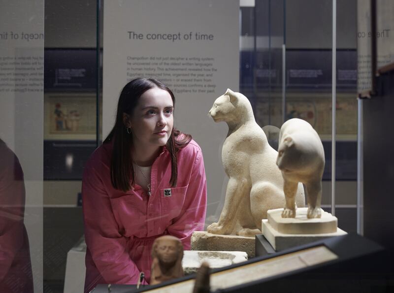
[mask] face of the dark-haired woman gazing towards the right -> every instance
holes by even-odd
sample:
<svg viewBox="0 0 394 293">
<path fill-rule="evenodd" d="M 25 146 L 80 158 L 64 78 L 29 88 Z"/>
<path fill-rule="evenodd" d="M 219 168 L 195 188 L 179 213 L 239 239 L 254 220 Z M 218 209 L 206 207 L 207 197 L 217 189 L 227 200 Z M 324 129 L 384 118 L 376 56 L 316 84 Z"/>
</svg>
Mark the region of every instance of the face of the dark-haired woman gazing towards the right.
<svg viewBox="0 0 394 293">
<path fill-rule="evenodd" d="M 130 117 L 134 145 L 164 146 L 174 124 L 173 110 L 172 98 L 167 91 L 153 88 L 142 94 Z"/>
</svg>

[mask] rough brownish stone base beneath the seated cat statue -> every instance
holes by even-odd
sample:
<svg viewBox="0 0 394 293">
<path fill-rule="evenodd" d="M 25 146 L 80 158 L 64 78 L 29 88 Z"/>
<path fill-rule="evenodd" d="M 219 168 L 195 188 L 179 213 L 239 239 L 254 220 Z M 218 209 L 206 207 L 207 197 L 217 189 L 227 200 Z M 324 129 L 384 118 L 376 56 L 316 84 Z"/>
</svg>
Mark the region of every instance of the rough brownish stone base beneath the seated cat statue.
<svg viewBox="0 0 394 293">
<path fill-rule="evenodd" d="M 206 231 L 192 234 L 191 250 L 244 251 L 248 258 L 255 256 L 255 237 L 237 235 L 217 235 Z"/>
</svg>

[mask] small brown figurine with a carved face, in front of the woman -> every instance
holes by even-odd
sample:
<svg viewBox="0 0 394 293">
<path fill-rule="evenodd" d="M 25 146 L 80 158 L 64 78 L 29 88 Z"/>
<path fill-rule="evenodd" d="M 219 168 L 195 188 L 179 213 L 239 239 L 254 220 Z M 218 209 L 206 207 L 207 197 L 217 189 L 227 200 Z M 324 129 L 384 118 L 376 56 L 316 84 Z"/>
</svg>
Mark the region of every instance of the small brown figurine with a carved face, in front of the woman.
<svg viewBox="0 0 394 293">
<path fill-rule="evenodd" d="M 151 285 L 182 277 L 183 245 L 174 236 L 158 237 L 152 247 Z"/>
</svg>

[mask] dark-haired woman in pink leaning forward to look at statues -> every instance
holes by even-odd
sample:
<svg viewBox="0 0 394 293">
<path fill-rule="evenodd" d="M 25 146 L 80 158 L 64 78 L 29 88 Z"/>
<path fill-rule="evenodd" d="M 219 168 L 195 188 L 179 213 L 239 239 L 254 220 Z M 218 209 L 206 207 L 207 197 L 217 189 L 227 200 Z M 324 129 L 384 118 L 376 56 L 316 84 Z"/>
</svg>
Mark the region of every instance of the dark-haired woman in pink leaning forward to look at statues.
<svg viewBox="0 0 394 293">
<path fill-rule="evenodd" d="M 153 241 L 165 234 L 190 249 L 203 230 L 206 179 L 201 149 L 173 128 L 173 93 L 138 78 L 122 90 L 115 126 L 85 165 L 85 292 L 97 284 L 150 280 Z"/>
</svg>

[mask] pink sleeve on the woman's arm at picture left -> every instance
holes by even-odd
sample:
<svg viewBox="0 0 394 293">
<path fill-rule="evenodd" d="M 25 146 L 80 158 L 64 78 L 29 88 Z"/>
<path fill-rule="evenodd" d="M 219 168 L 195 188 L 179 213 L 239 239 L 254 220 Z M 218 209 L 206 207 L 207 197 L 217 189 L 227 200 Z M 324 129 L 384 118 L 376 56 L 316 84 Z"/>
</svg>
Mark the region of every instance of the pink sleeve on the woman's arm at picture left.
<svg viewBox="0 0 394 293">
<path fill-rule="evenodd" d="M 136 284 L 139 270 L 126 251 L 109 196 L 99 173 L 86 166 L 82 178 L 85 241 L 92 260 L 107 284 Z"/>
</svg>

